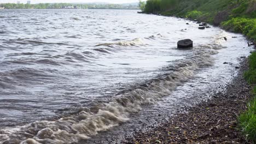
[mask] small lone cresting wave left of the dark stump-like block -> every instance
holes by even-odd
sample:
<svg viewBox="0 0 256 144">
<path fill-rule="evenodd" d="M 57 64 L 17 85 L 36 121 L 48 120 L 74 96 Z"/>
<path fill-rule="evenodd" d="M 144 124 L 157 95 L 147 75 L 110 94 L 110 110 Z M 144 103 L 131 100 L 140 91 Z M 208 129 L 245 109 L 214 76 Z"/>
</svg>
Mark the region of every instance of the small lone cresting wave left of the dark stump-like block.
<svg viewBox="0 0 256 144">
<path fill-rule="evenodd" d="M 119 41 L 117 43 L 104 43 L 104 44 L 98 44 L 95 46 L 108 46 L 108 45 L 138 46 L 138 45 L 143 45 L 143 41 L 141 38 L 136 38 L 133 40 Z"/>
</svg>

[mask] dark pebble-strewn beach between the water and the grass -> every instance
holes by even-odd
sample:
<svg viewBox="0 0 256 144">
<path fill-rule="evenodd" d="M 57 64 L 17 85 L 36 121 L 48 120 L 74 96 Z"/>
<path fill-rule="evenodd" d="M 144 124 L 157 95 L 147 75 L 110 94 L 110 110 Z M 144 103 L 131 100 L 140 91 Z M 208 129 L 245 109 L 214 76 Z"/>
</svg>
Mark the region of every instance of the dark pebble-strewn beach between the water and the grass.
<svg viewBox="0 0 256 144">
<path fill-rule="evenodd" d="M 248 60 L 244 59 L 225 93 L 217 93 L 208 102 L 178 113 L 156 128 L 137 131 L 123 143 L 245 143 L 237 129 L 237 117 L 252 98 L 252 88 L 243 77 L 246 70 Z"/>
</svg>

